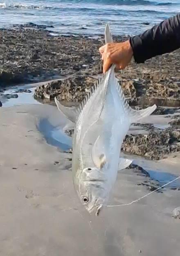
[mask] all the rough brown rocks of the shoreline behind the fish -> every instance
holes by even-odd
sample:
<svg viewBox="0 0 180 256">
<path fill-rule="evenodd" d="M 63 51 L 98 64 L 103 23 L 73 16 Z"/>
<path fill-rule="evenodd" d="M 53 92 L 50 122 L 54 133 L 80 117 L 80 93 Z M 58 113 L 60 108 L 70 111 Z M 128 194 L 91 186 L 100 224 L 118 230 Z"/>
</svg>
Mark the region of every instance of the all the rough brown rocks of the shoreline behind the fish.
<svg viewBox="0 0 180 256">
<path fill-rule="evenodd" d="M 0 36 L 0 90 L 9 85 L 59 78 L 36 88 L 34 97 L 49 102 L 54 101 L 55 96 L 61 101 L 81 102 L 102 73 L 98 48 L 103 44 L 103 35 L 98 39 L 53 36 L 44 27 L 31 23 L 0 29 Z M 115 37 L 115 41 L 124 39 Z M 141 109 L 155 103 L 156 115 L 177 112 L 166 129 L 150 125 L 148 134 L 127 135 L 122 150 L 157 160 L 180 151 L 179 59 L 180 50 L 177 50 L 144 64 L 132 61 L 125 70 L 117 72 L 132 107 Z M 73 131 L 67 133 L 72 135 Z"/>
</svg>

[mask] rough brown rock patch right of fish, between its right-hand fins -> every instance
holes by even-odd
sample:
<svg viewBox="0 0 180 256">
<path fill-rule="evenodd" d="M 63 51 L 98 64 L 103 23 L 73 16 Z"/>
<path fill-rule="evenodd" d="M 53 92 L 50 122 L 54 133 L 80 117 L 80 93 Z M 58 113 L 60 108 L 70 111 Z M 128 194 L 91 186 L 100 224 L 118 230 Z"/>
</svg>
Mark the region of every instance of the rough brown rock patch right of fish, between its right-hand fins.
<svg viewBox="0 0 180 256">
<path fill-rule="evenodd" d="M 149 129 L 148 125 L 147 126 Z M 160 160 L 166 157 L 169 153 L 180 151 L 180 130 L 173 129 L 172 127 L 158 130 L 150 125 L 149 134 L 135 134 L 126 135 L 121 150 L 144 156 L 147 159 Z M 74 129 L 66 131 L 69 136 L 72 136 Z M 136 168 L 135 165 L 130 165 L 130 168 Z M 138 171 L 143 173 L 143 169 L 138 167 Z M 147 172 L 143 174 L 148 175 Z"/>
</svg>

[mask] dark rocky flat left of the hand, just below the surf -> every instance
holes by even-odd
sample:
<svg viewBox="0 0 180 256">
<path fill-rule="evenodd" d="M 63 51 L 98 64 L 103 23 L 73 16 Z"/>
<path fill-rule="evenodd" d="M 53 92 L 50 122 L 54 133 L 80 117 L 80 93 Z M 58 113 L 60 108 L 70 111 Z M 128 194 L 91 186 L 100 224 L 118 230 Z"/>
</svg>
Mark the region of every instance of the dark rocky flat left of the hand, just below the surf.
<svg viewBox="0 0 180 256">
<path fill-rule="evenodd" d="M 79 75 L 102 72 L 98 39 L 49 36 L 46 27 L 27 23 L 0 29 L 0 87 L 74 75 L 77 71 Z"/>
</svg>

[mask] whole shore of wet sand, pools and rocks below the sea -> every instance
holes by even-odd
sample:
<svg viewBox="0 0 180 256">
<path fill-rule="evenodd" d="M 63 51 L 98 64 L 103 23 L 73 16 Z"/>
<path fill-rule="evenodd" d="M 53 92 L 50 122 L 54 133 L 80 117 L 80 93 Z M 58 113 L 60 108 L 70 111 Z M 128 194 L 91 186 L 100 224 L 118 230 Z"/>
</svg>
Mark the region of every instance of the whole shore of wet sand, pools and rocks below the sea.
<svg viewBox="0 0 180 256">
<path fill-rule="evenodd" d="M 72 123 L 54 96 L 66 104 L 82 100 L 101 75 L 103 36 L 52 36 L 23 26 L 0 34 L 0 256 L 179 256 L 173 211 L 180 179 L 134 204 L 104 207 L 98 217 L 75 194 Z M 130 127 L 122 149 L 134 161 L 118 173 L 110 205 L 128 204 L 180 175 L 179 57 L 176 51 L 133 62 L 117 73 L 133 108 L 157 103 L 157 111 Z"/>
</svg>

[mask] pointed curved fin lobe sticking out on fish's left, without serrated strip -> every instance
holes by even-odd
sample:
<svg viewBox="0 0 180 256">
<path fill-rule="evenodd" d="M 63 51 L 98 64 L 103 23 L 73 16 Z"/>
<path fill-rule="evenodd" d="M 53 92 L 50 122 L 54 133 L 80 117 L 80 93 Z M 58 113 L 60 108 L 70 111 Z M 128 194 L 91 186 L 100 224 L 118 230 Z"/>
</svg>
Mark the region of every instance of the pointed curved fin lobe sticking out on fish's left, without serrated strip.
<svg viewBox="0 0 180 256">
<path fill-rule="evenodd" d="M 54 98 L 56 102 L 56 106 L 60 112 L 62 112 L 67 119 L 69 119 L 71 122 L 76 122 L 76 118 L 79 116 L 79 109 L 76 107 L 68 107 L 61 104 L 57 98 Z"/>
</svg>

